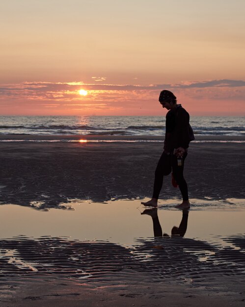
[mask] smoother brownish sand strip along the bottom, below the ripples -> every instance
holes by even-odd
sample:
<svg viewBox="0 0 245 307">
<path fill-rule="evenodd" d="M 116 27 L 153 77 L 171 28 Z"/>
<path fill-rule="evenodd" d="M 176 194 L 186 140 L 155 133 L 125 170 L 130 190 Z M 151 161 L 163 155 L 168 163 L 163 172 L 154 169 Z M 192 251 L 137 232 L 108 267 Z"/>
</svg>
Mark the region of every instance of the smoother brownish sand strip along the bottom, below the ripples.
<svg viewBox="0 0 245 307">
<path fill-rule="evenodd" d="M 214 279 L 213 279 L 214 280 Z M 217 284 L 219 280 L 216 281 Z M 226 286 L 223 284 L 226 282 Z M 20 283 L 20 285 L 18 285 Z M 15 281 L 18 290 L 11 299 L 6 294 L 2 307 L 155 307 L 155 306 L 217 306 L 244 307 L 244 287 L 234 286 L 235 281 L 223 279 L 220 286 L 206 285 L 200 289 L 186 285 L 143 284 L 134 281 L 124 285 L 90 288 L 86 283 L 54 279 Z M 205 288 L 207 289 L 205 291 Z M 235 289 L 235 291 L 234 291 Z"/>
</svg>

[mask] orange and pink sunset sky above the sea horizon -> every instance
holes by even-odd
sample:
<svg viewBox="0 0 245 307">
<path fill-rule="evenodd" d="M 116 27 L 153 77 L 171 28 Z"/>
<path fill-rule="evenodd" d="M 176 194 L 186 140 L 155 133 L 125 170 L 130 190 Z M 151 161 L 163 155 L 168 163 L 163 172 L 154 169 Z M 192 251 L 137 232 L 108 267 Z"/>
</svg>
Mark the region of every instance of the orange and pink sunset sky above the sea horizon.
<svg viewBox="0 0 245 307">
<path fill-rule="evenodd" d="M 0 115 L 245 115 L 244 0 L 1 0 Z M 86 91 L 86 96 L 80 95 Z"/>
</svg>

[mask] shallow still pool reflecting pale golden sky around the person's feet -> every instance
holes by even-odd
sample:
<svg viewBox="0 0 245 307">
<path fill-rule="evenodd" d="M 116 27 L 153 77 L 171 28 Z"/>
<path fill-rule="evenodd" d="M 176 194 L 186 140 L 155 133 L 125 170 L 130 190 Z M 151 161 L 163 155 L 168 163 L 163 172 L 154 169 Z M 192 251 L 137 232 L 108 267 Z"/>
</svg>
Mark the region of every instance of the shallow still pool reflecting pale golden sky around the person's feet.
<svg viewBox="0 0 245 307">
<path fill-rule="evenodd" d="M 36 238 L 67 236 L 133 245 L 134 238 L 154 235 L 151 217 L 140 214 L 144 210 L 140 201 L 74 202 L 72 206 L 74 210 L 51 208 L 40 211 L 18 205 L 1 205 L 0 238 L 16 235 Z M 179 226 L 181 222 L 182 211 L 166 210 L 164 206 L 158 210 L 158 217 L 163 232 L 171 234 L 172 227 Z M 208 239 L 218 235 L 242 234 L 245 232 L 244 220 L 245 211 L 242 210 L 223 211 L 220 207 L 216 211 L 210 208 L 191 210 L 185 237 Z"/>
</svg>

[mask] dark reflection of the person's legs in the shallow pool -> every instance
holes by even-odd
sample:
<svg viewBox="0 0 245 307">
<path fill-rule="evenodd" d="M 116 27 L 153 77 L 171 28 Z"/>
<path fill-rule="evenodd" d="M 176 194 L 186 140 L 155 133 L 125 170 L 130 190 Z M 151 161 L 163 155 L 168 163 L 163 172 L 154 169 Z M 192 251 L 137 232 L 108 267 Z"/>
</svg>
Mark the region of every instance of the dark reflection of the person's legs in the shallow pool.
<svg viewBox="0 0 245 307">
<path fill-rule="evenodd" d="M 168 236 L 168 234 L 163 233 L 161 224 L 159 222 L 158 218 L 158 209 L 145 209 L 141 214 L 147 214 L 152 217 L 153 222 L 153 231 L 154 231 L 154 237 L 162 237 L 162 236 Z M 187 223 L 188 223 L 188 215 L 189 211 L 186 209 L 182 210 L 182 220 L 180 222 L 179 227 L 174 226 L 171 230 L 172 236 L 180 236 L 183 237 L 187 230 Z"/>
</svg>

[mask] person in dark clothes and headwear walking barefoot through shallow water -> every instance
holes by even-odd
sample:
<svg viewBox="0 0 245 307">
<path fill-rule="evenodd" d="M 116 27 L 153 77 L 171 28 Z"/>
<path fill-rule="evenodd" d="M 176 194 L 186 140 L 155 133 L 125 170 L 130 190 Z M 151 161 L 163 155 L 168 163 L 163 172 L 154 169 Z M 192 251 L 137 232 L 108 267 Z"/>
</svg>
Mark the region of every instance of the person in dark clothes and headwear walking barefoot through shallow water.
<svg viewBox="0 0 245 307">
<path fill-rule="evenodd" d="M 180 188 L 183 202 L 178 208 L 190 208 L 188 187 L 183 175 L 184 162 L 187 156 L 189 143 L 194 139 L 188 112 L 177 104 L 176 97 L 170 91 L 160 93 L 159 102 L 163 108 L 169 110 L 166 114 L 166 132 L 163 153 L 155 171 L 155 180 L 152 199 L 142 202 L 145 206 L 157 207 L 160 191 L 163 186 L 163 176 L 173 172 L 173 184 L 176 181 Z"/>
</svg>

